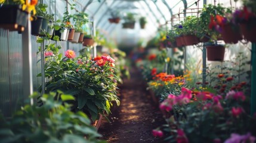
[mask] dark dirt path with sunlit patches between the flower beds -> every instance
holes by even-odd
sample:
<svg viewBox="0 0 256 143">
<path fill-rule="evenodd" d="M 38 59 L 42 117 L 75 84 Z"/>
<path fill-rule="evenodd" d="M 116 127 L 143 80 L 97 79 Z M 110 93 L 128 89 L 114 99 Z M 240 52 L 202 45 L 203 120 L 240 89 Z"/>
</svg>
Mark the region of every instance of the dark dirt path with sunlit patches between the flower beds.
<svg viewBox="0 0 256 143">
<path fill-rule="evenodd" d="M 124 80 L 121 87 L 121 105 L 110 114 L 111 123 L 103 122 L 98 130 L 108 142 L 164 142 L 155 138 L 152 129 L 165 123 L 158 107 L 136 69 L 131 69 L 131 79 Z"/>
</svg>

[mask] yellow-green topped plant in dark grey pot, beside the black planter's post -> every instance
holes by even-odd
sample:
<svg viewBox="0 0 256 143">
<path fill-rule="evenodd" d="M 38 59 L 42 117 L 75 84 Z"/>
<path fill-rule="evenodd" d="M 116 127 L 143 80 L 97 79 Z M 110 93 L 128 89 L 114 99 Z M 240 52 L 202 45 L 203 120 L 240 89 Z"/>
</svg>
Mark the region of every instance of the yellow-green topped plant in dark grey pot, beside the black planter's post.
<svg viewBox="0 0 256 143">
<path fill-rule="evenodd" d="M 51 36 L 53 35 L 53 14 L 47 13 L 47 4 L 38 4 L 36 5 L 36 15 L 43 17 L 41 31 L 38 36 Z"/>
</svg>

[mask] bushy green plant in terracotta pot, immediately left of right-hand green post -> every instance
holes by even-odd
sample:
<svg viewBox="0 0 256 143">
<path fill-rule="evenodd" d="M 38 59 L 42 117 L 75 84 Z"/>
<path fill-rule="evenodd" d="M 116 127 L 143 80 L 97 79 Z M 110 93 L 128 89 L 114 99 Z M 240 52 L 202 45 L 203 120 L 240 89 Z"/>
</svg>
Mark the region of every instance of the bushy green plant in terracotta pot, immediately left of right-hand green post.
<svg viewBox="0 0 256 143">
<path fill-rule="evenodd" d="M 198 17 L 188 16 L 183 22 L 183 35 L 186 45 L 195 45 L 199 43 L 199 38 L 196 36 L 196 27 L 198 26 Z"/>
</svg>

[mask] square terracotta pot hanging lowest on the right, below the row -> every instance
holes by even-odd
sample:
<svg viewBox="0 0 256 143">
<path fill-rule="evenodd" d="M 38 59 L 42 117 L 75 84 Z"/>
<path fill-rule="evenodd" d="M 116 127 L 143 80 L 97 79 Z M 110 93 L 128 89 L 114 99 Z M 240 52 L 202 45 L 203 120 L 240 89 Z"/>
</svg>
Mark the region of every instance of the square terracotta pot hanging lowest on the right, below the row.
<svg viewBox="0 0 256 143">
<path fill-rule="evenodd" d="M 223 61 L 225 54 L 225 47 L 223 45 L 209 45 L 206 46 L 208 61 Z"/>
</svg>

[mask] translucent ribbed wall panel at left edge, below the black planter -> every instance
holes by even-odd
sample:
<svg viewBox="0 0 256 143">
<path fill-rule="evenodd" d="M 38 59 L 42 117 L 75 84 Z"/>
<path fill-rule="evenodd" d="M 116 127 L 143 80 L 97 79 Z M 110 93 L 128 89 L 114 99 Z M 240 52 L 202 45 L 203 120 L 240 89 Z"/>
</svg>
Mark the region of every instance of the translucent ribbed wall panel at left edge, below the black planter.
<svg viewBox="0 0 256 143">
<path fill-rule="evenodd" d="M 18 32 L 0 29 L 0 110 L 4 116 L 20 109 L 23 105 L 22 42 Z"/>
</svg>

